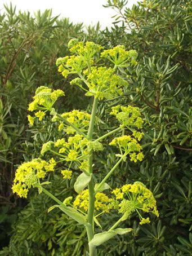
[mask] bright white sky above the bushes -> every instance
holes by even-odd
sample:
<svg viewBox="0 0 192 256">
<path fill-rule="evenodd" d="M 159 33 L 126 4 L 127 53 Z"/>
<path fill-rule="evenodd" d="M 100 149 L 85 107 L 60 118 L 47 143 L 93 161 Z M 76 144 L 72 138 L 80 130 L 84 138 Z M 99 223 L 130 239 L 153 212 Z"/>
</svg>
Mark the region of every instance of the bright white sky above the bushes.
<svg viewBox="0 0 192 256">
<path fill-rule="evenodd" d="M 3 4 L 8 3 L 10 0 L 0 0 L 0 10 L 3 11 Z M 52 8 L 52 15 L 60 14 L 60 17 L 69 17 L 70 21 L 74 23 L 83 22 L 85 25 L 95 25 L 100 21 L 101 28 L 111 27 L 114 19 L 111 16 L 115 15 L 115 11 L 111 8 L 104 8 L 107 0 L 12 0 L 12 5 L 16 5 L 16 10 L 30 12 L 40 9 Z M 128 0 L 128 7 L 137 3 L 137 0 Z"/>
</svg>

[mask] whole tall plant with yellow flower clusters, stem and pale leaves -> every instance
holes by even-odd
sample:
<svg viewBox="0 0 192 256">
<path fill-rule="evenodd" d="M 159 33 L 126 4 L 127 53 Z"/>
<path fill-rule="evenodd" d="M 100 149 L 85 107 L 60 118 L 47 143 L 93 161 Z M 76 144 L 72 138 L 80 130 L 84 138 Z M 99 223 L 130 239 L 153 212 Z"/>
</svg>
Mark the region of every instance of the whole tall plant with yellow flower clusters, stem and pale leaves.
<svg viewBox="0 0 192 256">
<path fill-rule="evenodd" d="M 97 105 L 103 99 L 114 99 L 123 94 L 124 87 L 128 86 L 126 80 L 118 74 L 118 69 L 128 65 L 136 65 L 137 52 L 126 51 L 124 46 L 116 46 L 110 50 L 103 50 L 100 45 L 93 42 L 78 42 L 72 39 L 68 43 L 69 50 L 74 54 L 65 56 L 56 61 L 59 72 L 65 78 L 69 74 L 76 74 L 70 83 L 79 86 L 86 91 L 86 96 L 93 98 L 91 114 L 73 110 L 59 114 L 53 104 L 60 96 L 64 96 L 61 90 L 53 90 L 40 86 L 29 104 L 28 110 L 34 115 L 28 116 L 30 125 L 34 125 L 35 118 L 40 121 L 50 112 L 52 122 L 58 126 L 60 139 L 48 141 L 42 145 L 42 157 L 49 152 L 52 157 L 49 161 L 35 158 L 30 162 L 21 164 L 15 174 L 12 190 L 20 197 L 27 197 L 30 188 L 38 188 L 39 193 L 44 192 L 57 202 L 48 211 L 59 208 L 69 217 L 86 227 L 90 255 L 96 255 L 96 246 L 108 241 L 115 235 L 123 235 L 131 232 L 131 228 L 117 228 L 118 225 L 131 217 L 136 212 L 140 218 L 140 224 L 149 223 L 150 219 L 144 218 L 143 213 L 152 213 L 158 216 L 158 210 L 153 193 L 141 182 L 124 184 L 120 188 L 111 190 L 106 183 L 114 170 L 121 162 L 142 161 L 142 146 L 140 140 L 144 135 L 142 118 L 139 108 L 117 105 L 111 108 L 111 115 L 119 122 L 119 127 L 102 135 L 100 138 L 93 136 L 96 122 Z M 100 51 L 101 54 L 100 54 Z M 110 61 L 110 67 L 103 65 L 104 59 Z M 94 174 L 94 152 L 103 151 L 102 140 L 115 133 L 122 133 L 111 139 L 109 145 L 117 148 L 116 164 L 105 175 L 101 182 L 97 183 Z M 127 135 L 125 135 L 127 133 Z M 53 158 L 54 156 L 54 158 Z M 53 172 L 59 163 L 68 165 L 61 170 L 64 179 L 70 179 L 73 175 L 73 167 L 78 168 L 79 176 L 74 184 L 77 196 L 66 197 L 60 201 L 47 191 L 44 186 L 50 182 L 41 182 L 48 172 Z M 104 193 L 107 191 L 107 193 Z M 99 219 L 104 214 L 117 211 L 120 215 L 107 231 L 95 234 L 95 224 L 101 228 Z"/>
</svg>

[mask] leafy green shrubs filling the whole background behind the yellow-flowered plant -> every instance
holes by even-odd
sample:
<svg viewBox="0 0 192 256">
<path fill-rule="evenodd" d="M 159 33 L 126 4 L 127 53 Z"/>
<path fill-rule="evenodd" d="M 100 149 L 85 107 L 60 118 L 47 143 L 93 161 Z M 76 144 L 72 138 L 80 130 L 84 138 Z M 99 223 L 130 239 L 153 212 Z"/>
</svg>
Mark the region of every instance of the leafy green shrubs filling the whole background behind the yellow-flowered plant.
<svg viewBox="0 0 192 256">
<path fill-rule="evenodd" d="M 82 92 L 69 87 L 69 81 L 55 68 L 56 58 L 68 54 L 65 46 L 72 37 L 92 40 L 106 48 L 125 45 L 127 50 L 139 52 L 135 68 L 119 70 L 130 86 L 123 96 L 100 105 L 97 128 L 104 134 L 109 127 L 117 126 L 109 117 L 110 107 L 115 104 L 141 108 L 145 160 L 119 166 L 110 185 L 140 180 L 153 191 L 160 210 L 159 220 L 142 227 L 133 216 L 124 224 L 133 226 L 133 233 L 110 240 L 98 249 L 98 255 L 192 255 L 192 3 L 146 0 L 132 8 L 126 5 L 125 0 L 106 1 L 105 7 L 114 8 L 117 16 L 113 28 L 104 32 L 97 24 L 85 33 L 82 24 L 53 18 L 48 10 L 32 17 L 21 12 L 16 15 L 15 8 L 6 7 L 6 14 L 0 15 L 2 246 L 7 245 L 5 239 L 11 232 L 10 244 L 1 255 L 86 255 L 83 227 L 77 228 L 73 220 L 57 210 L 47 214 L 52 202 L 46 195 L 37 197 L 32 192 L 28 204 L 20 210 L 26 202 L 18 201 L 10 191 L 16 164 L 30 159 L 32 152 L 33 157 L 38 156 L 41 145 L 57 136 L 54 125 L 48 122 L 28 129 L 26 107 L 35 88 L 47 85 L 66 91 L 64 101 L 59 103 L 65 109 L 87 106 Z M 105 143 L 104 155 L 95 159 L 98 178 L 114 165 L 114 153 L 107 147 L 108 141 Z M 50 189 L 61 200 L 65 194 L 73 194 L 72 186 L 59 175 L 51 179 Z M 17 211 L 20 213 L 15 221 Z M 111 219 L 106 219 L 105 225 L 109 223 Z"/>
</svg>

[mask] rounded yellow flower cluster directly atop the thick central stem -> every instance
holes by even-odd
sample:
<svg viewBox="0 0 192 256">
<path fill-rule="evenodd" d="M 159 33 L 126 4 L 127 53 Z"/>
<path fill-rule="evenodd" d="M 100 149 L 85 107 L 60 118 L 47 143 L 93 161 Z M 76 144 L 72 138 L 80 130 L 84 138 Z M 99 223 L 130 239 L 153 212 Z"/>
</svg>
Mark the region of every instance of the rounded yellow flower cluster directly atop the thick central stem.
<svg viewBox="0 0 192 256">
<path fill-rule="evenodd" d="M 86 95 L 95 95 L 100 100 L 113 99 L 115 96 L 122 95 L 122 87 L 128 86 L 128 83 L 114 72 L 114 69 L 106 67 L 92 67 L 91 73 L 84 70 L 89 89 Z"/>
</svg>

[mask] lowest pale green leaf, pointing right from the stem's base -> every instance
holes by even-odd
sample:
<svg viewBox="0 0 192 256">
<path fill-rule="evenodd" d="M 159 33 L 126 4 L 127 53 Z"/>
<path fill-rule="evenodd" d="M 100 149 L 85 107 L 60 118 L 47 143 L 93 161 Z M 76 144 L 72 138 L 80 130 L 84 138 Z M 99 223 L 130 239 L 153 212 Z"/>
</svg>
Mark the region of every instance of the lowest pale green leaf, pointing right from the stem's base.
<svg viewBox="0 0 192 256">
<path fill-rule="evenodd" d="M 89 242 L 89 245 L 92 247 L 99 246 L 103 244 L 104 242 L 110 240 L 116 235 L 124 235 L 128 232 L 131 232 L 132 228 L 117 228 L 111 231 L 106 231 L 103 233 L 98 233 L 95 236 L 93 236 L 93 239 Z"/>
</svg>

